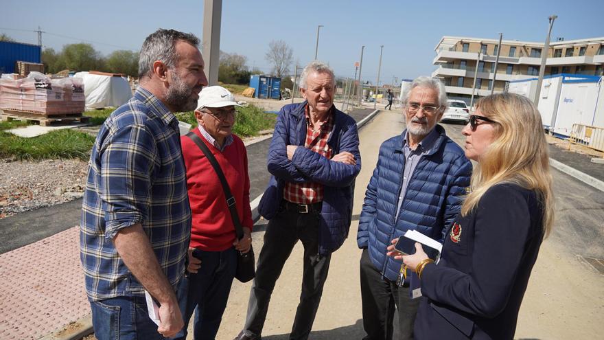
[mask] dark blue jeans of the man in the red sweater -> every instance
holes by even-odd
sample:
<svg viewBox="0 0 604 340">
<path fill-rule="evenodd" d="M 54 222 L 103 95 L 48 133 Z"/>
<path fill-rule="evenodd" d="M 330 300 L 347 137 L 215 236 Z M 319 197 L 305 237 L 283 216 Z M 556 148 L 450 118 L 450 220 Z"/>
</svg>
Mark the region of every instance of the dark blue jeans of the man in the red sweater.
<svg viewBox="0 0 604 340">
<path fill-rule="evenodd" d="M 187 339 L 187 326 L 194 311 L 194 339 L 215 339 L 237 271 L 237 250 L 194 249 L 193 256 L 201 260 L 201 267 L 197 273 L 189 273 L 178 288 L 185 327 L 174 339 Z"/>
</svg>

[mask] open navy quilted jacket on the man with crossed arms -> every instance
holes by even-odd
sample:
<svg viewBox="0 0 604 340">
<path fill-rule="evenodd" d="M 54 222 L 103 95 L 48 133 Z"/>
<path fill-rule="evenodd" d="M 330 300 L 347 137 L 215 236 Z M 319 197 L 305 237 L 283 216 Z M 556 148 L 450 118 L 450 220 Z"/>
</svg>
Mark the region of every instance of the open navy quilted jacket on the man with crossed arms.
<svg viewBox="0 0 604 340">
<path fill-rule="evenodd" d="M 336 251 L 348 237 L 352 216 L 354 181 L 361 170 L 356 122 L 333 107 L 334 130 L 327 139 L 333 155 L 347 151 L 354 155 L 356 165 L 351 166 L 329 159 L 304 148 L 306 138 L 305 106 L 307 102 L 283 106 L 277 117 L 275 133 L 268 149 L 268 171 L 272 174 L 268 188 L 258 206 L 258 212 L 270 219 L 279 209 L 286 181 L 303 183 L 314 181 L 325 185 L 319 253 L 327 255 Z M 286 147 L 302 146 L 290 161 Z"/>
</svg>

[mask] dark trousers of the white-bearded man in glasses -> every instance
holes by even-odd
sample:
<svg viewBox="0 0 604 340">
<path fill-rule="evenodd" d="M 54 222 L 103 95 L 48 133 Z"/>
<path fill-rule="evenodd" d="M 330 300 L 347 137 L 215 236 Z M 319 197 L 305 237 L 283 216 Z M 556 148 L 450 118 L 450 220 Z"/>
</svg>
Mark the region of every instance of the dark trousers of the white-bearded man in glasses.
<svg viewBox="0 0 604 340">
<path fill-rule="evenodd" d="M 411 299 L 408 287 L 399 287 L 386 278 L 371 262 L 369 251 L 363 249 L 360 260 L 361 299 L 364 340 L 391 340 L 395 308 L 399 315 L 398 339 L 413 339 L 413 324 L 419 298 Z"/>
</svg>

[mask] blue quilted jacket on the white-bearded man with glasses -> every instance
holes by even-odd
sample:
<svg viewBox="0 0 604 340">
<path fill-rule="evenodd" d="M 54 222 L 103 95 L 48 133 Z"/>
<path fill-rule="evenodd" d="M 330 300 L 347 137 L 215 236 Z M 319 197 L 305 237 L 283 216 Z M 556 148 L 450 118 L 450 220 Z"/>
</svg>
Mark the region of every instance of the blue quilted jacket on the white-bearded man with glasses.
<svg viewBox="0 0 604 340">
<path fill-rule="evenodd" d="M 403 183 L 405 154 L 402 135 L 384 141 L 373 176 L 367 185 L 359 220 L 357 242 L 368 248 L 375 268 L 388 280 L 395 281 L 401 263 L 386 256 L 386 247 L 409 229 L 416 229 L 435 240 L 443 241 L 446 229 L 461 208 L 465 189 L 472 174 L 472 163 L 463 150 L 436 126 L 439 138 L 432 150 L 423 155 L 411 176 L 398 218 L 397 200 Z M 415 252 L 409 240 L 405 249 Z"/>
</svg>

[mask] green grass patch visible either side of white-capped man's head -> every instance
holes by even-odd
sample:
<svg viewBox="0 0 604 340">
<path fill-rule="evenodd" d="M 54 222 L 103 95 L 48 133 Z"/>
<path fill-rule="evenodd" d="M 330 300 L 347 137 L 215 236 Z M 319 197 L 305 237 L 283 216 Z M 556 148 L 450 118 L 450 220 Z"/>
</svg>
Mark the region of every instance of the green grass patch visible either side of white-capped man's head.
<svg viewBox="0 0 604 340">
<path fill-rule="evenodd" d="M 246 107 L 237 107 L 237 120 L 233 133 L 240 137 L 256 136 L 262 130 L 275 128 L 277 115 L 265 113 L 263 109 L 253 104 L 248 104 Z M 197 120 L 193 111 L 177 113 L 176 117 L 181 122 L 191 124 L 191 128 L 197 126 Z"/>
</svg>

